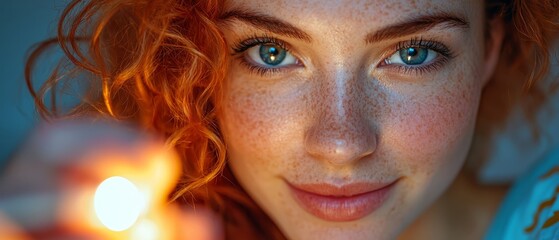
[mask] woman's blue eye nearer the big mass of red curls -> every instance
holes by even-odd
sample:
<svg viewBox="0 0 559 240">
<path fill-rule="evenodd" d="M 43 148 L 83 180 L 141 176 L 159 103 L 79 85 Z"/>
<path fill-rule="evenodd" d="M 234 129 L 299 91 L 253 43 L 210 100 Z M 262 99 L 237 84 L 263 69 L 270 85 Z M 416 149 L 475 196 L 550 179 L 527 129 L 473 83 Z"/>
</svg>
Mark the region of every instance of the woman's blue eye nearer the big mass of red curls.
<svg viewBox="0 0 559 240">
<path fill-rule="evenodd" d="M 297 59 L 287 49 L 275 43 L 261 43 L 246 50 L 246 59 L 263 68 L 296 65 Z"/>
</svg>

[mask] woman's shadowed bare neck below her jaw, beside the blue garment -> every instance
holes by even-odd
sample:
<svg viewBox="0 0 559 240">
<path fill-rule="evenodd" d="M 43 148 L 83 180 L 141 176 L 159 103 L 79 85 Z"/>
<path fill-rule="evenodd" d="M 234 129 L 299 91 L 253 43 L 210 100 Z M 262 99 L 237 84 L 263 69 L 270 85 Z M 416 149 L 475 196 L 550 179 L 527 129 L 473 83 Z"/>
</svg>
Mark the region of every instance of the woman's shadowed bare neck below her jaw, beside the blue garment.
<svg viewBox="0 0 559 240">
<path fill-rule="evenodd" d="M 507 189 L 481 185 L 461 172 L 400 239 L 482 239 Z"/>
</svg>

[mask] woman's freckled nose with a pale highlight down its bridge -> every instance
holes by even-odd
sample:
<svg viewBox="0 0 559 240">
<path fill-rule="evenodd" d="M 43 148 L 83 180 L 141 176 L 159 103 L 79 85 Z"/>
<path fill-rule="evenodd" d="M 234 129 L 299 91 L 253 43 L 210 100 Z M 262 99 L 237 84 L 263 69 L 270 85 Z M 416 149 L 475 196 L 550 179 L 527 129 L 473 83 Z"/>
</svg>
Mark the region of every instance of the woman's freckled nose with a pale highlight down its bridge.
<svg viewBox="0 0 559 240">
<path fill-rule="evenodd" d="M 374 153 L 374 121 L 367 114 L 364 84 L 350 73 L 331 76 L 313 91 L 314 119 L 305 133 L 305 149 L 316 159 L 348 165 Z"/>
</svg>

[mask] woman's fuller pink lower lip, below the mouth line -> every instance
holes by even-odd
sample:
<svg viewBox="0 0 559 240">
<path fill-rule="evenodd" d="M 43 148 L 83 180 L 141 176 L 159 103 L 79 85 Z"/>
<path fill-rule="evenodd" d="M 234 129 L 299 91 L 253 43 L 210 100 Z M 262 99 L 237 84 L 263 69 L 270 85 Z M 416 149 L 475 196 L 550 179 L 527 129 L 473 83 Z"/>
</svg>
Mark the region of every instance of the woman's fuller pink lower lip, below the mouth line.
<svg viewBox="0 0 559 240">
<path fill-rule="evenodd" d="M 297 202 L 310 214 L 326 221 L 347 222 L 361 219 L 382 206 L 394 183 L 381 189 L 348 197 L 325 196 L 290 185 Z"/>
</svg>

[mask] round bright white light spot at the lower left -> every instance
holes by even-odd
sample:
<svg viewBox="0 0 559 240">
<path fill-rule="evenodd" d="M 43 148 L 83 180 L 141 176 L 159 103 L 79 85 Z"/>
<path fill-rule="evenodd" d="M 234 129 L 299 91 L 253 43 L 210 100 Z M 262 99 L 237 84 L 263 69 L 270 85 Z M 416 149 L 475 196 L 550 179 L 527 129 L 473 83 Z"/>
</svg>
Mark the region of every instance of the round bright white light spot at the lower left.
<svg viewBox="0 0 559 240">
<path fill-rule="evenodd" d="M 93 204 L 97 218 L 110 230 L 124 231 L 138 219 L 145 207 L 145 196 L 128 179 L 105 179 L 95 191 Z"/>
</svg>

